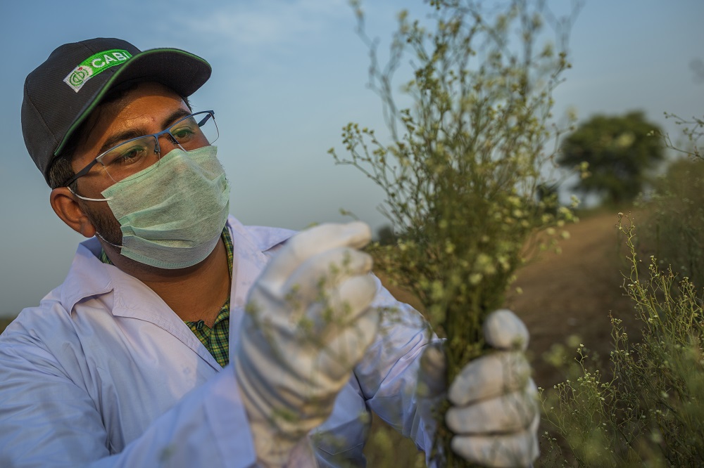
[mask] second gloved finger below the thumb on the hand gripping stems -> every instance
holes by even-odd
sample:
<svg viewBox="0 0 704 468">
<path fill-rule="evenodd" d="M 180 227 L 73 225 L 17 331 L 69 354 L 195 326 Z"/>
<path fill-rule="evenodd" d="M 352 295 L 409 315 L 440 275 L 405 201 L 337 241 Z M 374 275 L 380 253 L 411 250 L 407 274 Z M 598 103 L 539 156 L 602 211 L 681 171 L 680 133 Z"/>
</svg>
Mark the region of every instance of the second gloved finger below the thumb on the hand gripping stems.
<svg viewBox="0 0 704 468">
<path fill-rule="evenodd" d="M 453 406 L 445 420 L 455 434 L 506 434 L 522 431 L 540 417 L 537 395 L 525 389 L 467 406 Z"/>
</svg>

